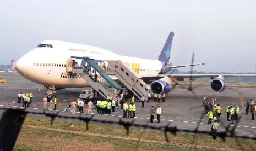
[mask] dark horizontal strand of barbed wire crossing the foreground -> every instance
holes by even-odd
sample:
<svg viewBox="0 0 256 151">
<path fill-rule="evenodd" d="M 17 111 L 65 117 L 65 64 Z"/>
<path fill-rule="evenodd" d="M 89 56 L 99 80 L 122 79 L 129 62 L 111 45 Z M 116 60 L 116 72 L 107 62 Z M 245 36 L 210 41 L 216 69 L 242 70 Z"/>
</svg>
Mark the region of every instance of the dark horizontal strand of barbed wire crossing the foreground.
<svg viewBox="0 0 256 151">
<path fill-rule="evenodd" d="M 165 137 L 166 137 L 166 142 L 170 142 L 168 140 L 167 137 L 167 133 L 170 132 L 173 135 L 176 135 L 177 132 L 186 132 L 186 133 L 199 133 L 199 134 L 204 134 L 204 135 L 210 135 L 211 132 L 209 131 L 201 131 L 198 130 L 198 126 L 195 128 L 195 130 L 188 130 L 188 129 L 178 129 L 177 126 L 169 126 L 171 124 L 171 122 L 169 122 L 167 125 L 165 126 L 150 126 L 148 125 L 148 123 L 146 124 L 136 124 L 134 123 L 135 120 L 132 121 L 124 121 L 122 119 L 119 119 L 119 121 L 107 121 L 107 120 L 100 120 L 100 119 L 95 119 L 94 115 L 91 115 L 91 117 L 71 117 L 68 115 L 61 115 L 57 113 L 46 113 L 45 111 L 43 112 L 32 112 L 32 111 L 27 111 L 26 109 L 19 109 L 19 108 L 4 108 L 4 107 L 0 107 L 1 110 L 7 110 L 7 109 L 11 109 L 11 110 L 23 110 L 24 113 L 27 114 L 38 114 L 38 115 L 45 115 L 46 117 L 50 117 L 51 118 L 51 124 L 53 124 L 53 121 L 55 120 L 55 118 L 64 118 L 64 119 L 78 119 L 80 121 L 84 121 L 86 123 L 86 130 L 88 130 L 88 125 L 90 122 L 95 122 L 95 123 L 103 123 L 103 124 L 118 124 L 124 127 L 124 129 L 126 129 L 127 131 L 127 135 L 129 135 L 129 129 L 131 126 L 133 127 L 137 127 L 137 128 L 143 128 L 143 129 L 151 129 L 151 130 L 158 130 L 158 131 L 162 131 L 165 133 Z M 252 137 L 252 136 L 236 136 L 235 135 L 235 128 L 237 127 L 237 124 L 235 124 L 234 126 L 227 126 L 226 127 L 226 131 L 224 132 L 216 132 L 217 136 L 219 136 L 222 140 L 225 140 L 225 138 L 227 137 L 231 137 L 231 138 L 243 138 L 243 139 L 249 139 L 249 140 L 256 140 L 256 137 Z"/>
</svg>

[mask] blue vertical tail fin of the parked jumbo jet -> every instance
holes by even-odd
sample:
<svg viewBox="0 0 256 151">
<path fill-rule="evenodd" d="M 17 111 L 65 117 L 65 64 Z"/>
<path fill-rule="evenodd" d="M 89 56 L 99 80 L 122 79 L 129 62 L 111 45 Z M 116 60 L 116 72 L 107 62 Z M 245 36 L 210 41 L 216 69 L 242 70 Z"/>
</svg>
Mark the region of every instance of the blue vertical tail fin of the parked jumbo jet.
<svg viewBox="0 0 256 151">
<path fill-rule="evenodd" d="M 165 42 L 165 46 L 162 49 L 159 57 L 157 60 L 161 61 L 162 63 L 168 62 L 169 58 L 170 58 L 170 51 L 172 48 L 172 39 L 173 39 L 174 33 L 170 32 L 166 42 Z"/>
</svg>

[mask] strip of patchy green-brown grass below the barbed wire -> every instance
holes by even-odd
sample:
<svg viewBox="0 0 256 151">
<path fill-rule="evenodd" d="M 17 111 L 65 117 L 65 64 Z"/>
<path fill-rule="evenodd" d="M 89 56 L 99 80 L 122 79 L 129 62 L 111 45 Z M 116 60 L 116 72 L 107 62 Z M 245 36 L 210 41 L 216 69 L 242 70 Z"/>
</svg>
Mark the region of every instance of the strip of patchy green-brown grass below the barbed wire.
<svg viewBox="0 0 256 151">
<path fill-rule="evenodd" d="M 168 144 L 164 133 L 159 131 L 130 129 L 126 136 L 123 127 L 90 124 L 86 130 L 84 123 L 76 123 L 75 127 L 69 124 L 69 121 L 54 121 L 51 125 L 50 120 L 26 118 L 14 150 L 190 150 L 192 147 L 225 150 L 219 138 L 213 140 L 210 136 L 196 136 L 193 143 L 194 135 L 178 133 L 174 136 L 168 133 Z M 245 150 L 256 147 L 255 141 L 238 142 Z M 227 138 L 226 143 L 230 149 L 239 148 L 232 138 Z"/>
</svg>

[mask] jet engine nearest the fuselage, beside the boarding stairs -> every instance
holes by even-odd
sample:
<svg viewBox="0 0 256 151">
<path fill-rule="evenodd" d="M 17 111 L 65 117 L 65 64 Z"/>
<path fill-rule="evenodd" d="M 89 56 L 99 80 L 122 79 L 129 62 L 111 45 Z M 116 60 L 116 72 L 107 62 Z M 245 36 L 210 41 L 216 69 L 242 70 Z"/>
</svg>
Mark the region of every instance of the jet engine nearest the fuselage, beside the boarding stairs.
<svg viewBox="0 0 256 151">
<path fill-rule="evenodd" d="M 151 90 L 156 94 L 167 94 L 171 90 L 172 79 L 164 77 L 151 84 Z"/>
</svg>

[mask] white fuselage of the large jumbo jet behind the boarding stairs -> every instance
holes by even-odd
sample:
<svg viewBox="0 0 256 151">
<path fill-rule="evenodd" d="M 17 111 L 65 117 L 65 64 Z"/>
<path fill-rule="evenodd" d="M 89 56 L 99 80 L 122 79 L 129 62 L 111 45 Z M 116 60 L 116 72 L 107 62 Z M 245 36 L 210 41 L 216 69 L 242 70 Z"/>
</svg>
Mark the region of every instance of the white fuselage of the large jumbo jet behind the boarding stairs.
<svg viewBox="0 0 256 151">
<path fill-rule="evenodd" d="M 160 72 L 162 63 L 158 60 L 141 59 L 122 56 L 111 51 L 90 45 L 45 40 L 20 57 L 15 63 L 15 69 L 25 78 L 43 85 L 54 85 L 63 88 L 83 88 L 90 86 L 80 75 L 66 72 L 66 63 L 70 56 L 90 57 L 95 60 L 119 60 L 126 62 L 130 68 L 141 75 Z M 47 45 L 48 44 L 48 45 Z M 47 47 L 51 45 L 52 47 Z M 80 65 L 81 59 L 73 59 Z"/>
</svg>

